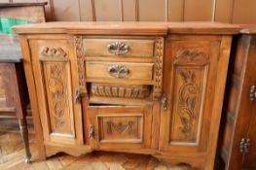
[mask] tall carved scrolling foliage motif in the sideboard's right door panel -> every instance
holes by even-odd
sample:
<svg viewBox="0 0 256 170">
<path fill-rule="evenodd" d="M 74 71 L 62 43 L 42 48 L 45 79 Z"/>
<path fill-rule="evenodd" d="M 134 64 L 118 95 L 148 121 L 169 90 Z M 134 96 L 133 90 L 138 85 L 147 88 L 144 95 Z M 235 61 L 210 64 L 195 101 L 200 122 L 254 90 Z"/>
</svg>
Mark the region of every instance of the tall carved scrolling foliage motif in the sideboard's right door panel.
<svg viewBox="0 0 256 170">
<path fill-rule="evenodd" d="M 180 73 L 183 85 L 179 89 L 178 115 L 180 117 L 182 133 L 190 135 L 195 123 L 195 106 L 199 86 L 196 84 L 196 74 L 193 70 L 183 70 Z"/>
</svg>

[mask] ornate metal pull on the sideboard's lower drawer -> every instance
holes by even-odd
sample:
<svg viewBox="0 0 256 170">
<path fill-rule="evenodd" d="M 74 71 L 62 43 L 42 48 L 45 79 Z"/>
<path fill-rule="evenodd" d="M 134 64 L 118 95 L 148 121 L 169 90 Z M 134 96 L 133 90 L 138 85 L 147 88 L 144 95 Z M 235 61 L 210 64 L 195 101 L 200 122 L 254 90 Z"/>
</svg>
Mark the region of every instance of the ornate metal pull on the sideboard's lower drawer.
<svg viewBox="0 0 256 170">
<path fill-rule="evenodd" d="M 108 68 L 108 73 L 115 78 L 126 78 L 129 71 L 125 65 L 114 65 Z"/>
</svg>

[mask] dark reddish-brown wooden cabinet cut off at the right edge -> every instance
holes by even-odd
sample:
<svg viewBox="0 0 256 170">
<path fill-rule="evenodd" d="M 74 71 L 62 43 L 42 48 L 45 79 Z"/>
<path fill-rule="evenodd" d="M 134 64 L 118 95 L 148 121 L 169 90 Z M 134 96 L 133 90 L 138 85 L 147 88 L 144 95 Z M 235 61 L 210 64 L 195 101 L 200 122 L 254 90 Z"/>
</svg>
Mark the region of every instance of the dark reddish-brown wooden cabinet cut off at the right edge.
<svg viewBox="0 0 256 170">
<path fill-rule="evenodd" d="M 247 27 L 234 43 L 224 102 L 220 135 L 227 170 L 256 169 L 256 27 Z"/>
</svg>

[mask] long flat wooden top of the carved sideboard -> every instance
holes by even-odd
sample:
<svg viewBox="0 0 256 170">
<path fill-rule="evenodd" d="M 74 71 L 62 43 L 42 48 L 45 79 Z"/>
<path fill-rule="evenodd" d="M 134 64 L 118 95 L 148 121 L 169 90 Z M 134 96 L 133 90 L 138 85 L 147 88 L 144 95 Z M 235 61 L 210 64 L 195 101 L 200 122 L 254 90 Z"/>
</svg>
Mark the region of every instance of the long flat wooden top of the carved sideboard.
<svg viewBox="0 0 256 170">
<path fill-rule="evenodd" d="M 18 34 L 94 35 L 238 34 L 240 27 L 218 22 L 46 22 L 13 27 Z"/>
</svg>

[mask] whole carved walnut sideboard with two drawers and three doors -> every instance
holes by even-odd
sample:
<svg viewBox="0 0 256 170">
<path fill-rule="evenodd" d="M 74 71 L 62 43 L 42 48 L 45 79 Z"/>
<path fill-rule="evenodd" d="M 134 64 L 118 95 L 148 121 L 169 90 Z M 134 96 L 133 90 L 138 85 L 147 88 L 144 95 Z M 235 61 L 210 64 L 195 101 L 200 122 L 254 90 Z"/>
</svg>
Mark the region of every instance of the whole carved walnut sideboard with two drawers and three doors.
<svg viewBox="0 0 256 170">
<path fill-rule="evenodd" d="M 237 26 L 49 22 L 14 30 L 40 158 L 102 150 L 213 169 Z"/>
</svg>

